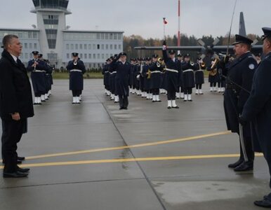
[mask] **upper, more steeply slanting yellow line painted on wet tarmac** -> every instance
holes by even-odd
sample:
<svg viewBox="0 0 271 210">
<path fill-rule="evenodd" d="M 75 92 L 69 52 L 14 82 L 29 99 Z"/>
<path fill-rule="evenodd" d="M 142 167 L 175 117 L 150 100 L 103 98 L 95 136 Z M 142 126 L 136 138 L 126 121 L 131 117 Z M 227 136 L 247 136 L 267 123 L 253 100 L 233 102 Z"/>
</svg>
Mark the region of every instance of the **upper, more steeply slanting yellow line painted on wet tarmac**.
<svg viewBox="0 0 271 210">
<path fill-rule="evenodd" d="M 180 141 L 190 141 L 190 140 L 195 140 L 195 139 L 203 139 L 207 137 L 216 137 L 219 135 L 225 135 L 225 134 L 230 134 L 230 131 L 225 131 L 225 132 L 216 132 L 213 134 L 204 134 L 204 135 L 199 135 L 199 136 L 194 136 L 194 137 L 184 137 L 181 139 L 171 139 L 171 140 L 166 140 L 166 141 L 155 141 L 155 142 L 150 142 L 150 143 L 145 143 L 145 144 L 134 144 L 130 146 L 118 146 L 118 147 L 110 147 L 110 148 L 97 148 L 97 149 L 90 149 L 90 150 L 85 150 L 85 151 L 74 151 L 74 152 L 67 152 L 67 153 L 55 153 L 55 154 L 48 154 L 48 155 L 35 155 L 35 156 L 29 156 L 26 157 L 26 160 L 32 160 L 32 159 L 38 159 L 38 158 L 51 158 L 51 157 L 58 157 L 58 156 L 64 156 L 64 155 L 78 155 L 78 154 L 84 154 L 84 153 L 95 153 L 95 152 L 102 152 L 102 151 L 116 151 L 116 150 L 122 150 L 126 148 L 138 148 L 138 147 L 144 147 L 144 146 L 156 146 L 159 144 L 171 144 L 171 143 L 176 143 Z"/>
</svg>

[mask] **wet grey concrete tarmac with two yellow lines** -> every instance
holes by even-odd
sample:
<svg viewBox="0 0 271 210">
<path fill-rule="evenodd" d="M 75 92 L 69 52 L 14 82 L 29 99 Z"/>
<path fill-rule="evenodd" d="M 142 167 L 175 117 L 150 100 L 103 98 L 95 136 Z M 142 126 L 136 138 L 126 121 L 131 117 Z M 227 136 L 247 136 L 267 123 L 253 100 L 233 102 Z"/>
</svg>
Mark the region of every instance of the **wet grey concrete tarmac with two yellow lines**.
<svg viewBox="0 0 271 210">
<path fill-rule="evenodd" d="M 18 144 L 30 174 L 0 177 L 0 209 L 260 209 L 253 201 L 270 193 L 267 164 L 257 154 L 253 172 L 227 168 L 238 137 L 208 86 L 193 102 L 177 99 L 180 109 L 166 109 L 166 95 L 130 95 L 119 110 L 103 80 L 84 80 L 82 104 L 72 104 L 68 80 L 54 80 Z"/>
</svg>

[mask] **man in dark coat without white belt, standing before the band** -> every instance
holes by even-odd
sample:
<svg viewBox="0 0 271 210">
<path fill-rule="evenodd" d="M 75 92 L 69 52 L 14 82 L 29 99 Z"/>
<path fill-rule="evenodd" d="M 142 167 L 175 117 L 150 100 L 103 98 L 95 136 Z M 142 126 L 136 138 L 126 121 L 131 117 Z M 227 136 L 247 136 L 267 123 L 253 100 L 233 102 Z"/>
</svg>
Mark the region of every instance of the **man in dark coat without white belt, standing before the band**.
<svg viewBox="0 0 271 210">
<path fill-rule="evenodd" d="M 119 61 L 117 61 L 119 59 Z M 131 64 L 126 62 L 126 53 L 121 52 L 117 59 L 113 61 L 114 69 L 116 69 L 116 90 L 119 95 L 119 109 L 128 108 L 129 96 L 129 74 L 131 72 Z"/>
</svg>

